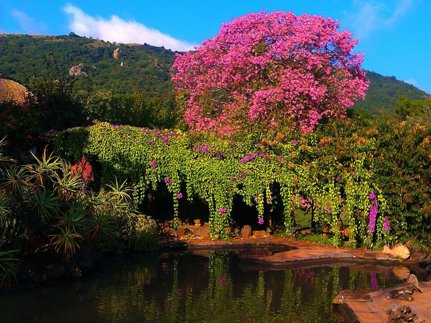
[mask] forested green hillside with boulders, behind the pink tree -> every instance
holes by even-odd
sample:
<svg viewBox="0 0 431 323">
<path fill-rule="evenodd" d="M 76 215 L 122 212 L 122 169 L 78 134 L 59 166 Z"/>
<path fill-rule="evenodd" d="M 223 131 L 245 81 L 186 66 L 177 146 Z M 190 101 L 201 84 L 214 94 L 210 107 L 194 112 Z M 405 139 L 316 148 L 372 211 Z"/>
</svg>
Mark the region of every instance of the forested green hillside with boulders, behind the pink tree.
<svg viewBox="0 0 431 323">
<path fill-rule="evenodd" d="M 174 60 L 175 52 L 147 44 L 109 43 L 73 33 L 63 36 L 0 34 L 0 73 L 20 83 L 33 75 L 59 72 L 60 78 L 69 75 L 72 66 L 82 64 L 81 71 L 88 77 L 76 76 L 75 85 L 79 90 L 133 93 L 137 89 L 146 90 L 150 96 L 170 98 L 174 88 L 170 81 Z M 370 71 L 367 78 L 371 81 L 367 96 L 354 109 L 369 113 L 394 112 L 400 95 L 408 99 L 431 98 L 394 76 Z"/>
</svg>

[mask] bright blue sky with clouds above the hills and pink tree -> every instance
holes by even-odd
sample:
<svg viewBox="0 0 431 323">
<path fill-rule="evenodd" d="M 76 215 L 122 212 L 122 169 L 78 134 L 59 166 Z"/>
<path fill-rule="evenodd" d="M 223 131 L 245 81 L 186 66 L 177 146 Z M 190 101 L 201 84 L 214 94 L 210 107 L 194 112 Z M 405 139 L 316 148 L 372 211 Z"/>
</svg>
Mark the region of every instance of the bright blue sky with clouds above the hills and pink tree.
<svg viewBox="0 0 431 323">
<path fill-rule="evenodd" d="M 283 10 L 338 19 L 365 52 L 363 67 L 431 93 L 431 0 L 0 0 L 0 32 L 68 34 L 187 50 L 218 33 L 222 22 Z"/>
</svg>

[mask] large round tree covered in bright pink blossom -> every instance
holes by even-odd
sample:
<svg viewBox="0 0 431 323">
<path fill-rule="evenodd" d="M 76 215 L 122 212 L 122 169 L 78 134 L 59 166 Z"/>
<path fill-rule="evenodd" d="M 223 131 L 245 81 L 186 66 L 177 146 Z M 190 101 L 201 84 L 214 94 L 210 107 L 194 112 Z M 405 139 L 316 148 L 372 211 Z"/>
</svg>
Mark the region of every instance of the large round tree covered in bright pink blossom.
<svg viewBox="0 0 431 323">
<path fill-rule="evenodd" d="M 322 16 L 249 13 L 177 54 L 172 80 L 188 91 L 190 129 L 231 134 L 252 122 L 307 133 L 323 116 L 343 118 L 369 81 L 363 53 L 352 53 L 358 40 L 338 27 Z"/>
</svg>

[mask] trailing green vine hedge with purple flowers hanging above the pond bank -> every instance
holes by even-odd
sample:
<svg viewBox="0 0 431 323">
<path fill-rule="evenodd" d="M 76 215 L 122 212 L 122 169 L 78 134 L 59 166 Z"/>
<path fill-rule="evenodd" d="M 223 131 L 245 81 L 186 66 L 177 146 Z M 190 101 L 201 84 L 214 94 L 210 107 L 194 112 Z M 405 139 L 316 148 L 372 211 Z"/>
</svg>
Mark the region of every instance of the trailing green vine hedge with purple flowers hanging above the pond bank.
<svg viewBox="0 0 431 323">
<path fill-rule="evenodd" d="M 98 123 L 60 134 L 56 146 L 71 159 L 94 156 L 101 163 L 103 179 L 130 180 L 136 203 L 159 183 L 171 192 L 175 215 L 179 199 L 199 197 L 209 207 L 215 238 L 226 237 L 223 229 L 231 224 L 233 199 L 238 195 L 256 207 L 259 224 L 267 220 L 263 219 L 266 205 L 281 204 L 283 225 L 290 230 L 294 210 L 307 210 L 312 203 L 315 221 L 329 223 L 334 232 L 344 221 L 351 226 L 351 242 L 381 244 L 387 241 L 383 217 L 376 221 L 374 237 L 366 230 L 369 194 L 378 196 L 381 214 L 386 209 L 373 179 L 376 140 L 371 134 L 360 137 L 352 131 L 353 124 L 332 127 L 332 135 L 322 131 L 301 138 L 289 131 L 223 140 Z M 340 239 L 334 236 L 334 242 Z"/>
</svg>

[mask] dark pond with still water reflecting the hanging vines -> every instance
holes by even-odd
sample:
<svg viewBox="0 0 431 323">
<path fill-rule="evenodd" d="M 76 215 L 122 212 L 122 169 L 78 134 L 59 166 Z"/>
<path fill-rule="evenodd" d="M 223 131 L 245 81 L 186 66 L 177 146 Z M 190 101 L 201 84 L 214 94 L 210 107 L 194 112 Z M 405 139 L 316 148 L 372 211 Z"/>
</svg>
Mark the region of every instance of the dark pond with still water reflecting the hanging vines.
<svg viewBox="0 0 431 323">
<path fill-rule="evenodd" d="M 340 290 L 402 282 L 367 271 L 259 270 L 226 250 L 128 255 L 82 280 L 0 291 L 1 322 L 336 322 Z"/>
</svg>

